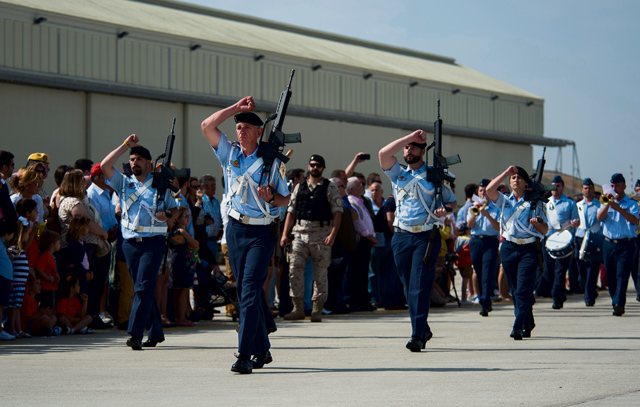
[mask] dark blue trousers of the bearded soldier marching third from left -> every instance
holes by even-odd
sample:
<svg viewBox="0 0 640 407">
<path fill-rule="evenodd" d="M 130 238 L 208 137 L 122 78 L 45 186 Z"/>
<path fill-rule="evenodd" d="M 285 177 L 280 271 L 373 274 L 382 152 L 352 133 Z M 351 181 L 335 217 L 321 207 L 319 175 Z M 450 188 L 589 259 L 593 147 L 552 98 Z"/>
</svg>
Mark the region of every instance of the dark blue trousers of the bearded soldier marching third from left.
<svg viewBox="0 0 640 407">
<path fill-rule="evenodd" d="M 411 336 L 421 341 L 429 331 L 427 317 L 431 306 L 431 288 L 436 276 L 436 263 L 442 245 L 440 232 L 436 231 L 432 242 L 431 261 L 430 264 L 425 264 L 422 260 L 427 251 L 430 235 L 430 231 L 422 233 L 398 232 L 391 239 L 398 275 L 404 285 L 404 294 L 409 306 Z"/>
</svg>

